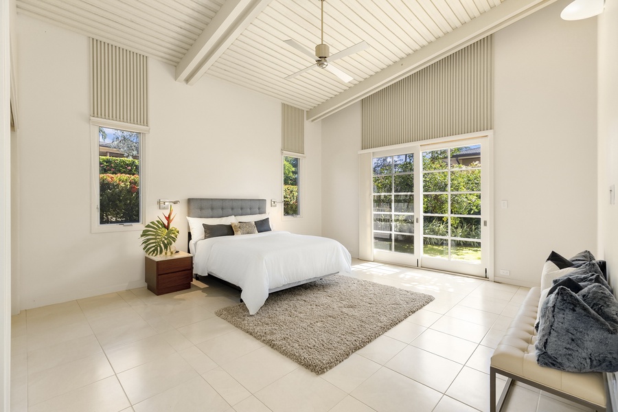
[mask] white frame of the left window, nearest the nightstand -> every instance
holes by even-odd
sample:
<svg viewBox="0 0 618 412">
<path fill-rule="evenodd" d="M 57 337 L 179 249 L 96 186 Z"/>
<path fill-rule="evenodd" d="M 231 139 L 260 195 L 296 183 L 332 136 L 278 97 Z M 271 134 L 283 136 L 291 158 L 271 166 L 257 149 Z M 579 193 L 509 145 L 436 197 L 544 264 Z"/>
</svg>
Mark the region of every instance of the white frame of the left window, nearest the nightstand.
<svg viewBox="0 0 618 412">
<path fill-rule="evenodd" d="M 145 126 L 137 126 L 135 124 L 127 124 L 115 122 L 113 120 L 98 119 L 91 117 L 90 119 L 90 135 L 91 135 L 91 233 L 109 233 L 109 232 L 124 232 L 124 231 L 142 231 L 146 226 L 144 216 L 146 216 L 146 172 L 142 167 L 146 160 L 146 135 L 150 133 L 150 128 Z M 117 225 L 101 225 L 99 222 L 99 128 L 114 128 L 120 130 L 128 130 L 130 132 L 139 133 L 139 196 L 140 196 L 140 211 L 138 223 Z M 142 163 L 144 162 L 144 163 Z"/>
</svg>

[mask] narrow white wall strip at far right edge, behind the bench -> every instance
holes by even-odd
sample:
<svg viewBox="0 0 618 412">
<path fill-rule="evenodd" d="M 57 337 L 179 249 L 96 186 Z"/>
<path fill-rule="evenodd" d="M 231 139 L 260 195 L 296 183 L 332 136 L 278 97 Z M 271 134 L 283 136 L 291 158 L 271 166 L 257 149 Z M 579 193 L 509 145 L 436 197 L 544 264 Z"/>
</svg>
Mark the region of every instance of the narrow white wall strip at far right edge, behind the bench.
<svg viewBox="0 0 618 412">
<path fill-rule="evenodd" d="M 607 260 L 618 296 L 618 205 L 609 205 L 609 186 L 618 188 L 618 1 L 606 0 L 599 17 L 599 254 Z M 616 196 L 618 198 L 618 196 Z"/>
</svg>

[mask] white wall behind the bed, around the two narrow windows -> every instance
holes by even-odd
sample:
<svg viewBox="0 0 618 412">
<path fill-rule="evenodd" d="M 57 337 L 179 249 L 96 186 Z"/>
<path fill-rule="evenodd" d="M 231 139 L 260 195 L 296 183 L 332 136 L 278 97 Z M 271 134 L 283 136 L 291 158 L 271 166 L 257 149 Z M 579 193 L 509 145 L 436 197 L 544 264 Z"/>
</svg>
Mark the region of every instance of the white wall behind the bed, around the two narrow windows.
<svg viewBox="0 0 618 412">
<path fill-rule="evenodd" d="M 18 16 L 21 308 L 144 286 L 139 231 L 91 233 L 89 41 Z M 174 81 L 150 59 L 146 221 L 179 199 L 176 247 L 186 250 L 189 197 L 281 198 L 281 108 L 272 98 L 203 78 Z M 320 124 L 306 130 L 304 217 L 276 229 L 321 233 Z"/>
</svg>

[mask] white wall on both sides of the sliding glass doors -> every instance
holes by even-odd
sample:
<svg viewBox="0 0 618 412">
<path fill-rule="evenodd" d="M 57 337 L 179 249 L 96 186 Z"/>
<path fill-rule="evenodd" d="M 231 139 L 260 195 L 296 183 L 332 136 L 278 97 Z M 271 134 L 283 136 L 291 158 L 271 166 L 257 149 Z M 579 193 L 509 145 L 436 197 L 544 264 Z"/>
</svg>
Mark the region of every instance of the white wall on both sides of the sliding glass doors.
<svg viewBox="0 0 618 412">
<path fill-rule="evenodd" d="M 564 5 L 494 35 L 494 270 L 511 273 L 500 282 L 538 285 L 552 250 L 596 253 L 596 25 L 562 21 Z M 350 243 L 358 239 L 359 105 L 324 119 L 322 133 L 323 233 Z M 328 176 L 343 176 L 343 196 L 328 191 Z"/>
</svg>

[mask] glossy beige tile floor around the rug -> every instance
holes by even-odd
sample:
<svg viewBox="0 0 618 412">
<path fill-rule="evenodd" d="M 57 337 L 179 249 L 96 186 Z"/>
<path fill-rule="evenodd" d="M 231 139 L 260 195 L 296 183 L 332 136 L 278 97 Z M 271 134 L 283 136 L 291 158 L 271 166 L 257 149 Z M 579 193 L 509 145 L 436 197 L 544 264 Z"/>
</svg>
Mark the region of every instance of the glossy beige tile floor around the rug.
<svg viewBox="0 0 618 412">
<path fill-rule="evenodd" d="M 489 360 L 526 288 L 355 260 L 435 301 L 316 376 L 215 316 L 216 281 L 126 290 L 12 318 L 12 411 L 487 411 Z M 500 386 L 500 385 L 499 385 Z M 582 409 L 516 385 L 505 411 Z"/>
</svg>

